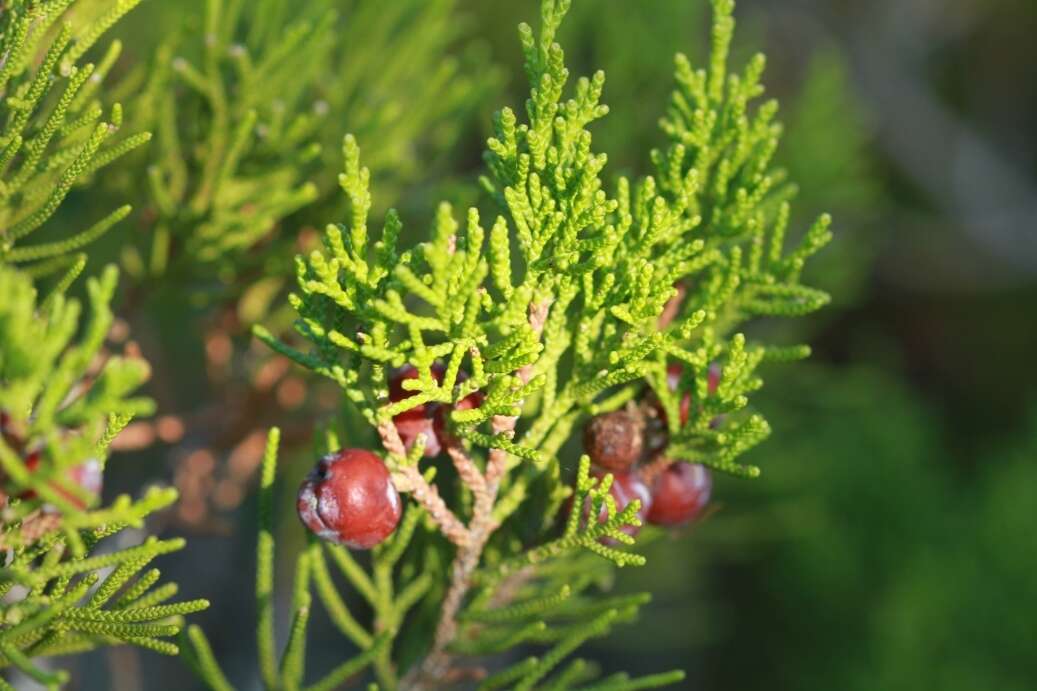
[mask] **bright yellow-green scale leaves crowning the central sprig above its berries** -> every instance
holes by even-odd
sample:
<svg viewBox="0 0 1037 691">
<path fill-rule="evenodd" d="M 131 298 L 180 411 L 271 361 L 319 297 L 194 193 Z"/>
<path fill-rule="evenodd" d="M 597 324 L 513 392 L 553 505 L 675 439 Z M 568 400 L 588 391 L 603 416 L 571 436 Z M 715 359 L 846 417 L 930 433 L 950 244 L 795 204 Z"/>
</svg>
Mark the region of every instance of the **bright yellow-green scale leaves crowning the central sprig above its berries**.
<svg viewBox="0 0 1037 691">
<path fill-rule="evenodd" d="M 458 224 L 444 204 L 430 241 L 400 251 L 400 222 L 390 212 L 370 242 L 370 174 L 347 137 L 340 182 L 351 222 L 329 226 L 324 249 L 297 262 L 301 291 L 291 304 L 314 348 L 300 352 L 258 333 L 337 381 L 372 423 L 481 389 L 484 405 L 451 415 L 461 437 L 531 460 L 537 471 L 581 418 L 642 395 L 645 385 L 675 412 L 681 394 L 666 385 L 666 370 L 680 363 L 681 392 L 701 403 L 683 425 L 668 415 L 671 455 L 755 475 L 735 459 L 768 432 L 748 409 L 762 384 L 758 366 L 809 350 L 754 342 L 737 329 L 821 307 L 828 296 L 800 274 L 831 237 L 822 217 L 785 249 L 793 189 L 769 167 L 776 105 L 750 108 L 763 59 L 727 74 L 732 6 L 717 2 L 709 68 L 693 71 L 677 57 L 677 89 L 662 120 L 670 143 L 651 157 L 656 174 L 619 178 L 610 196 L 599 176 L 606 158 L 592 151 L 587 130 L 607 112 L 598 103 L 604 76 L 579 80 L 574 98 L 562 101 L 568 74 L 554 34 L 565 8 L 544 4 L 539 38 L 521 32 L 534 88 L 528 122 L 505 108 L 489 140 L 483 183 L 503 212 L 493 228 L 474 209 Z M 661 325 L 677 285 L 686 296 Z M 537 306 L 541 334 L 528 321 Z M 437 360 L 447 363 L 441 382 L 429 370 Z M 419 370 L 408 383 L 414 394 L 386 405 L 386 371 L 403 363 Z M 722 371 L 714 395 L 710 364 Z M 514 372 L 526 366 L 524 383 Z M 459 383 L 461 368 L 469 378 Z M 500 414 L 522 415 L 513 440 L 486 434 L 484 423 Z"/>
</svg>

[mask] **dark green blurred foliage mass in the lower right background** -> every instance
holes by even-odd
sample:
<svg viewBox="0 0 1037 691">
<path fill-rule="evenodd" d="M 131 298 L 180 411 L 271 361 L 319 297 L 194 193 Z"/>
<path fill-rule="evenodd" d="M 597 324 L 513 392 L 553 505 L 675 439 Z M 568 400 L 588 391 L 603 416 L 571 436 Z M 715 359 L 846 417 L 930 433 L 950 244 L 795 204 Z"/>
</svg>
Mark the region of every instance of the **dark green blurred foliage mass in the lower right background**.
<svg viewBox="0 0 1037 691">
<path fill-rule="evenodd" d="M 735 625 L 758 665 L 725 658 L 718 676 L 796 689 L 1029 688 L 1037 418 L 982 464 L 949 473 L 938 421 L 889 375 L 805 371 L 782 391 L 801 403 L 784 408 L 800 434 L 776 445 L 767 491 L 778 540 L 747 564 L 766 584 L 742 593 L 747 618 Z M 754 609 L 781 627 L 752 626 Z"/>
</svg>

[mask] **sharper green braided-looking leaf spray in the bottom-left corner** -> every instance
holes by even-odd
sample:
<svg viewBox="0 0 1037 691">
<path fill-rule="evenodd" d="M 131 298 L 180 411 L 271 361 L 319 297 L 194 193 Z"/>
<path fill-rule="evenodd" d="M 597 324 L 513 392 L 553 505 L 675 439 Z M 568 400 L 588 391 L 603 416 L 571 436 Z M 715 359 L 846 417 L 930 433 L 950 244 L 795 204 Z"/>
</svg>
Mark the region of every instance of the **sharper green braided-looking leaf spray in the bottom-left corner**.
<svg viewBox="0 0 1037 691">
<path fill-rule="evenodd" d="M 168 603 L 176 585 L 156 587 L 161 573 L 147 566 L 181 549 L 184 541 L 149 537 L 114 552 L 102 542 L 174 499 L 155 493 L 117 513 L 113 508 L 99 527 L 78 530 L 75 542 L 67 531 L 49 533 L 10 552 L 0 569 L 0 667 L 18 668 L 50 689 L 64 684 L 67 673 L 44 669 L 34 660 L 119 643 L 177 655 L 178 646 L 168 639 L 179 633 L 185 614 L 208 603 Z M 0 688 L 13 687 L 0 680 Z"/>
</svg>

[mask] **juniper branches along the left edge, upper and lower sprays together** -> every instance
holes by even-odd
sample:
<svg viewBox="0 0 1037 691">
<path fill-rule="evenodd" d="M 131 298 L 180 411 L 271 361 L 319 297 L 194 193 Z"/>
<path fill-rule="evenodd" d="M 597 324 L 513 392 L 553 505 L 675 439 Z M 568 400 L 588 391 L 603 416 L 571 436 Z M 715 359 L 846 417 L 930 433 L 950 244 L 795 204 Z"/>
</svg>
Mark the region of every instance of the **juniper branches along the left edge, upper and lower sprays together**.
<svg viewBox="0 0 1037 691">
<path fill-rule="evenodd" d="M 183 541 L 130 546 L 122 532 L 171 504 L 174 491 L 100 505 L 111 442 L 153 408 L 133 395 L 148 366 L 105 343 L 113 267 L 87 281 L 88 322 L 65 293 L 86 262 L 79 250 L 130 208 L 71 236 L 23 243 L 75 185 L 148 139 L 120 138 L 121 107 L 106 116 L 101 105 L 119 44 L 99 63 L 81 63 L 137 1 L 16 0 L 0 12 L 0 667 L 48 689 L 67 674 L 41 659 L 118 643 L 176 655 L 168 638 L 179 618 L 207 606 L 169 604 L 175 584 L 156 587 L 160 573 L 146 570 Z M 56 272 L 40 297 L 33 280 Z M 0 680 L 0 688 L 13 687 Z"/>
</svg>

